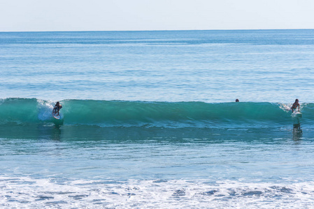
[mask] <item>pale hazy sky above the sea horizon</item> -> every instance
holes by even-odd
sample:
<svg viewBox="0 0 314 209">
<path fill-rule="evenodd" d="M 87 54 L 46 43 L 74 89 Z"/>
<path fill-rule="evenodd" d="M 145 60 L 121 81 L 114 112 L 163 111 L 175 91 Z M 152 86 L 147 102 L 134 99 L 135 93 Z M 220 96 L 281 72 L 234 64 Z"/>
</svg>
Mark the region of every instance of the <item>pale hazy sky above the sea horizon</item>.
<svg viewBox="0 0 314 209">
<path fill-rule="evenodd" d="M 0 0 L 0 31 L 314 29 L 314 0 Z"/>
</svg>

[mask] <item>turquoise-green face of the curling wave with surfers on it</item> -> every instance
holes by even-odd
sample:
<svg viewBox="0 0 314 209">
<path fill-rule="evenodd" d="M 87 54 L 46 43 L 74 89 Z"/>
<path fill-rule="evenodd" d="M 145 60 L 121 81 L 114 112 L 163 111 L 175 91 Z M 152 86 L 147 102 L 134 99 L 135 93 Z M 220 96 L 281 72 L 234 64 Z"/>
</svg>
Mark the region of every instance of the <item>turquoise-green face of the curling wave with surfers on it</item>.
<svg viewBox="0 0 314 209">
<path fill-rule="evenodd" d="M 62 120 L 52 118 L 55 102 L 7 98 L 0 100 L 0 124 L 60 123 L 100 127 L 269 127 L 310 124 L 314 104 L 301 104 L 302 116 L 269 102 L 134 102 L 62 100 Z"/>
</svg>

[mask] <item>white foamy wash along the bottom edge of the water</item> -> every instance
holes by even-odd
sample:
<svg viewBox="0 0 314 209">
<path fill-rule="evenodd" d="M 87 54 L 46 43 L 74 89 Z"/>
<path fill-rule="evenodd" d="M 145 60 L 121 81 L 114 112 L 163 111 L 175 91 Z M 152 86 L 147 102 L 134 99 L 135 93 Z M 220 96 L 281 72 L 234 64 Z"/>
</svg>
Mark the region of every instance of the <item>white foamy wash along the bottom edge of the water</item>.
<svg viewBox="0 0 314 209">
<path fill-rule="evenodd" d="M 312 208 L 314 181 L 0 177 L 1 208 Z"/>
</svg>

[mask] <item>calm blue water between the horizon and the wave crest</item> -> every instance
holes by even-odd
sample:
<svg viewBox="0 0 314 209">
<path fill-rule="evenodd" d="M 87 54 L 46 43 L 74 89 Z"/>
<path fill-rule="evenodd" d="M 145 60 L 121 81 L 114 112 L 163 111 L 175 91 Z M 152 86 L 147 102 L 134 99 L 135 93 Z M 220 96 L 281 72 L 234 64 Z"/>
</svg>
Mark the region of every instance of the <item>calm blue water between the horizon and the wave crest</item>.
<svg viewBox="0 0 314 209">
<path fill-rule="evenodd" d="M 313 102 L 314 30 L 1 33 L 0 98 Z"/>
</svg>

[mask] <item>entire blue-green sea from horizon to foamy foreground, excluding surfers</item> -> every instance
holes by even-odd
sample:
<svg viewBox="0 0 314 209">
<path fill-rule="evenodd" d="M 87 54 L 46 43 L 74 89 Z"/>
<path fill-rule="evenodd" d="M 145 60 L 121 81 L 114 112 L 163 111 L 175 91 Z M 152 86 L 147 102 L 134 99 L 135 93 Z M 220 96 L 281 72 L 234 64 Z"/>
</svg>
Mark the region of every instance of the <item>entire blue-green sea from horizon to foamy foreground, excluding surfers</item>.
<svg viewBox="0 0 314 209">
<path fill-rule="evenodd" d="M 313 58 L 314 30 L 0 33 L 0 207 L 313 208 Z"/>
</svg>

